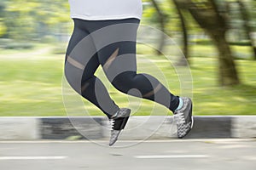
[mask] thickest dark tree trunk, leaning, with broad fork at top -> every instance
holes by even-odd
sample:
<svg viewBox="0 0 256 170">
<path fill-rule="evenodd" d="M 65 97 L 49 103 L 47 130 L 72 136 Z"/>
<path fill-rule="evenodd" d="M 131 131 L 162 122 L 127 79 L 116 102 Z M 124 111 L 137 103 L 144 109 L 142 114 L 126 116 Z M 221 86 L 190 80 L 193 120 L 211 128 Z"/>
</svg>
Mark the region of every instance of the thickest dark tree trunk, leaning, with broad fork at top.
<svg viewBox="0 0 256 170">
<path fill-rule="evenodd" d="M 225 38 L 228 18 L 219 8 L 217 0 L 177 0 L 187 8 L 197 23 L 207 31 L 218 48 L 218 79 L 222 86 L 239 84 L 234 56 Z M 221 5 L 223 8 L 224 6 Z"/>
</svg>

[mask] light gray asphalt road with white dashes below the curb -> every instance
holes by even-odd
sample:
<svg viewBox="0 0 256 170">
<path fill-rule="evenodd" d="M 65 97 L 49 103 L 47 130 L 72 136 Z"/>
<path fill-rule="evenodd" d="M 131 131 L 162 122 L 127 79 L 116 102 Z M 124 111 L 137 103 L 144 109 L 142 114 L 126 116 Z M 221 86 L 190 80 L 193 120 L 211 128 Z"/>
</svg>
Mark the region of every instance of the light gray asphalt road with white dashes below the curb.
<svg viewBox="0 0 256 170">
<path fill-rule="evenodd" d="M 256 139 L 119 141 L 113 148 L 104 144 L 108 141 L 0 141 L 0 169 L 256 169 Z"/>
</svg>

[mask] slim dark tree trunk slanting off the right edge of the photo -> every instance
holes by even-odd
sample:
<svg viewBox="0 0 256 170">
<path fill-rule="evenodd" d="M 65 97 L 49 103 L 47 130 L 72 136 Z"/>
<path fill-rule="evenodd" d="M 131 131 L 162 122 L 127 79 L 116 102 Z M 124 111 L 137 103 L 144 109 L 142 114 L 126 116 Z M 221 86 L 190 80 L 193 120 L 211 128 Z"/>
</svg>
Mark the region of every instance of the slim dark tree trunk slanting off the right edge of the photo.
<svg viewBox="0 0 256 170">
<path fill-rule="evenodd" d="M 251 46 L 253 47 L 254 59 L 256 59 L 256 44 L 254 44 L 253 36 L 251 36 L 251 33 L 253 32 L 253 28 L 252 26 L 250 26 L 250 17 L 249 17 L 249 14 L 247 13 L 247 8 L 241 2 L 241 0 L 237 0 L 236 3 L 239 4 L 241 18 L 243 20 L 243 26 L 245 31 L 247 32 L 247 38 L 250 40 Z"/>
</svg>

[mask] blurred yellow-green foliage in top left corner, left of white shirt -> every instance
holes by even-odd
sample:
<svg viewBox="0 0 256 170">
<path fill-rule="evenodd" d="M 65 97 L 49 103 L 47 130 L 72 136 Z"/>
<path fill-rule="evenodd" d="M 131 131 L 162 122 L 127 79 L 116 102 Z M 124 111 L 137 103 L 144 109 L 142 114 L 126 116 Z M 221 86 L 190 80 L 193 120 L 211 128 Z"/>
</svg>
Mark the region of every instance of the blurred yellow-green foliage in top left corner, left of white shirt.
<svg viewBox="0 0 256 170">
<path fill-rule="evenodd" d="M 40 39 L 52 32 L 61 32 L 70 20 L 66 0 L 1 1 L 5 14 L 3 23 L 7 27 L 5 37 L 15 40 Z"/>
</svg>

